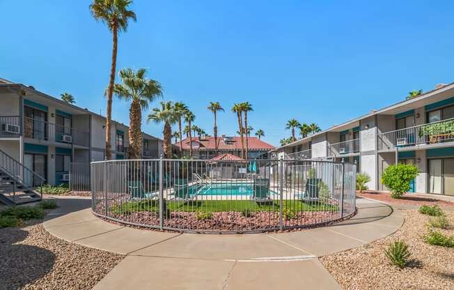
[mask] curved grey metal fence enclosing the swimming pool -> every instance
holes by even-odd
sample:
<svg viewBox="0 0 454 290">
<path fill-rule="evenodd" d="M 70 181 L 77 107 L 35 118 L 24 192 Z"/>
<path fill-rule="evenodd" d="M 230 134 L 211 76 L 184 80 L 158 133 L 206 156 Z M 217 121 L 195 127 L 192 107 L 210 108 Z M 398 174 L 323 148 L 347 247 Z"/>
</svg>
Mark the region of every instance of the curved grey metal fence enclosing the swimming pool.
<svg viewBox="0 0 454 290">
<path fill-rule="evenodd" d="M 353 215 L 356 165 L 314 160 L 91 163 L 92 210 L 141 227 L 254 233 Z"/>
</svg>

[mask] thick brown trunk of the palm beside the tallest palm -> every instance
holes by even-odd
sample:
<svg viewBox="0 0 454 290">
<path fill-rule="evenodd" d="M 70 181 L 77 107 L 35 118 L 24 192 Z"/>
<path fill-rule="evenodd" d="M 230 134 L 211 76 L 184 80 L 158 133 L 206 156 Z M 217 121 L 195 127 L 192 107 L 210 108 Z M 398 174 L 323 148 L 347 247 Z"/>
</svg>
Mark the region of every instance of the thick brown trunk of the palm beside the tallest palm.
<svg viewBox="0 0 454 290">
<path fill-rule="evenodd" d="M 139 100 L 132 100 L 130 107 L 130 159 L 142 155 L 142 109 Z"/>
</svg>

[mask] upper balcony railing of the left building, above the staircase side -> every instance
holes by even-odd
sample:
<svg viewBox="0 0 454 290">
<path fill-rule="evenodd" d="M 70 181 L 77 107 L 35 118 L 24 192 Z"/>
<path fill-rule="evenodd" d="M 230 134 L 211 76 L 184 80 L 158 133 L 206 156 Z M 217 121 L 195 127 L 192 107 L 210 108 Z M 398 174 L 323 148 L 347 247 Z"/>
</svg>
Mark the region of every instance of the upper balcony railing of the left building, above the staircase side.
<svg viewBox="0 0 454 290">
<path fill-rule="evenodd" d="M 90 146 L 90 133 L 29 117 L 24 118 L 24 137 L 50 142 Z"/>
</svg>

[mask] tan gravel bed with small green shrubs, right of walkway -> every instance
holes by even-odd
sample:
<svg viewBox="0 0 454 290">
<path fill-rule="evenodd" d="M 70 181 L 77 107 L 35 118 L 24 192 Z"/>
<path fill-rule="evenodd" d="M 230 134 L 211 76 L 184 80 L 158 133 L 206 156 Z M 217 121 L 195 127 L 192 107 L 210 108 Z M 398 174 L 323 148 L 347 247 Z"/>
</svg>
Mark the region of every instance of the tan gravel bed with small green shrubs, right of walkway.
<svg viewBox="0 0 454 290">
<path fill-rule="evenodd" d="M 454 249 L 428 245 L 421 236 L 429 217 L 416 210 L 402 211 L 403 227 L 395 234 L 368 245 L 322 257 L 320 260 L 343 289 L 454 289 Z M 454 213 L 446 213 L 454 223 Z M 454 235 L 454 228 L 440 230 Z M 384 250 L 403 239 L 412 263 L 400 270 L 389 264 Z"/>
</svg>

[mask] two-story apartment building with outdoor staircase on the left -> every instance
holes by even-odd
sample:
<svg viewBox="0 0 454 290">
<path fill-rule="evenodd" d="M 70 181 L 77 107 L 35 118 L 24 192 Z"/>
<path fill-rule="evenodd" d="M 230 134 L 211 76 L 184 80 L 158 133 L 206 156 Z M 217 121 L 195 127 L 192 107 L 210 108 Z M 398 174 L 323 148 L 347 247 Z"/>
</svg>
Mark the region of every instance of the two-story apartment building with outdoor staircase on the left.
<svg viewBox="0 0 454 290">
<path fill-rule="evenodd" d="M 104 160 L 105 128 L 104 116 L 0 79 L 0 167 L 29 187 L 33 173 L 59 185 L 68 182 L 70 165 Z M 128 129 L 112 122 L 112 159 L 127 158 Z M 158 158 L 162 143 L 143 133 L 143 158 Z"/>
</svg>

